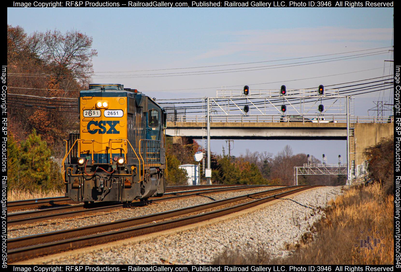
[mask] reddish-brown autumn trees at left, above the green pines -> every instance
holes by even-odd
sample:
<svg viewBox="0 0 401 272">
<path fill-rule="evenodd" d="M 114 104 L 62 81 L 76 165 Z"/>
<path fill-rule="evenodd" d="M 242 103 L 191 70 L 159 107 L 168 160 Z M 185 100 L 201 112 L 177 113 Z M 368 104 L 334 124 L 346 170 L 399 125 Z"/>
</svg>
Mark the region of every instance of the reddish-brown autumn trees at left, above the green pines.
<svg viewBox="0 0 401 272">
<path fill-rule="evenodd" d="M 92 42 L 91 37 L 77 30 L 27 35 L 20 26 L 7 25 L 9 90 L 38 97 L 77 97 L 73 90 L 83 89 L 93 73 L 92 58 L 97 52 L 91 49 Z M 9 102 L 12 130 L 20 139 L 36 129 L 47 141 L 53 141 L 65 138 L 67 131 L 76 128 L 76 102 L 14 95 Z M 71 115 L 74 111 L 75 117 Z"/>
</svg>

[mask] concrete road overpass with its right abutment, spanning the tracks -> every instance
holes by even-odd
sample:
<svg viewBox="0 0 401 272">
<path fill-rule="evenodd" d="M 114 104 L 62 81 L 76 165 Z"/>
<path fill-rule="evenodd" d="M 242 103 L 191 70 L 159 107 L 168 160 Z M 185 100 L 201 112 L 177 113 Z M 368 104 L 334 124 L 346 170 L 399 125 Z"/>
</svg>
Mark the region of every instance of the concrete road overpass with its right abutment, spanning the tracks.
<svg viewBox="0 0 401 272">
<path fill-rule="evenodd" d="M 219 116 L 210 115 L 210 139 L 346 140 L 344 115 Z M 351 178 L 363 171 L 363 152 L 381 138 L 394 134 L 394 117 L 349 117 Z M 166 135 L 206 139 L 205 116 L 169 117 Z"/>
</svg>

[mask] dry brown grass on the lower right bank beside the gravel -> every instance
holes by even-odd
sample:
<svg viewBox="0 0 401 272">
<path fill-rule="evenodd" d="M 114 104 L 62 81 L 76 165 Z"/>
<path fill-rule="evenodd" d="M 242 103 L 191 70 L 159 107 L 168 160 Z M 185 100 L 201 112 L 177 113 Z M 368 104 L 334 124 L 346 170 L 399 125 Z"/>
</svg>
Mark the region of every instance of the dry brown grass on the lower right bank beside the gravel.
<svg viewBox="0 0 401 272">
<path fill-rule="evenodd" d="M 292 250 L 290 256 L 271 258 L 266 254 L 266 258 L 255 262 L 246 256 L 258 254 L 257 251 L 231 251 L 217 256 L 214 263 L 246 260 L 243 264 L 393 264 L 393 203 L 394 196 L 385 195 L 377 183 L 353 187 L 330 203 L 325 218 L 314 224 L 314 235 L 305 234 L 298 243 L 287 245 Z M 381 243 L 370 250 L 360 248 L 360 239 L 366 240 L 366 236 L 380 239 Z"/>
</svg>

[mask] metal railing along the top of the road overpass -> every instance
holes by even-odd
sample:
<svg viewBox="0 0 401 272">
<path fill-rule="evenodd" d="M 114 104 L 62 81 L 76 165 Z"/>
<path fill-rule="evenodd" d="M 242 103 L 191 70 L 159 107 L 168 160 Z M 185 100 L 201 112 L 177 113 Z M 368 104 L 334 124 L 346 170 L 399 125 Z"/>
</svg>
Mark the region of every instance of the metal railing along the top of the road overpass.
<svg viewBox="0 0 401 272">
<path fill-rule="evenodd" d="M 168 122 L 206 122 L 205 115 L 167 116 Z M 345 115 L 211 115 L 211 122 L 346 123 Z M 394 123 L 393 116 L 350 116 L 351 123 Z"/>
</svg>

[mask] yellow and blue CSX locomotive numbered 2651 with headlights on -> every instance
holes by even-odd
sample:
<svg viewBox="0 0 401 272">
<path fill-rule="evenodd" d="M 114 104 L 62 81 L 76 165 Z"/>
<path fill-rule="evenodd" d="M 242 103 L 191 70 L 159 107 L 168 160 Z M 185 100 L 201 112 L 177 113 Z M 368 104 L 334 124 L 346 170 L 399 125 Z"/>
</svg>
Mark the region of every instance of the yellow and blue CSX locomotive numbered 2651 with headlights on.
<svg viewBox="0 0 401 272">
<path fill-rule="evenodd" d="M 148 199 L 164 193 L 166 111 L 121 84 L 79 95 L 79 134 L 65 140 L 66 196 L 73 201 Z"/>
</svg>

